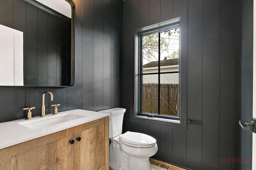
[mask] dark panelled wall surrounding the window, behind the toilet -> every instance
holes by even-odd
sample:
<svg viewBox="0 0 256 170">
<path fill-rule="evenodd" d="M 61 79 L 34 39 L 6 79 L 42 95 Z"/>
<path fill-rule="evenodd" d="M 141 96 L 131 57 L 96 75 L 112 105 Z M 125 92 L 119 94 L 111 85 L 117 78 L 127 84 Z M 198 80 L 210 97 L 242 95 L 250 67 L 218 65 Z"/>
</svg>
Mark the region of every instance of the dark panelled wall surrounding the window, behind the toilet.
<svg viewBox="0 0 256 170">
<path fill-rule="evenodd" d="M 248 34 L 252 36 L 247 32 L 252 27 L 245 26 L 252 23 L 252 9 L 248 8 L 251 3 L 251 0 L 124 1 L 121 106 L 127 111 L 123 131 L 138 131 L 155 137 L 158 152 L 154 158 L 195 170 L 241 168 L 240 164 L 220 163 L 218 159 L 240 158 L 240 146 L 235 143 L 240 140 L 236 115 L 241 113 L 236 105 L 252 108 L 251 103 L 245 102 L 251 99 L 247 92 L 252 92 L 252 75 L 248 74 L 252 68 L 252 63 L 248 63 L 252 53 L 246 53 L 252 52 L 252 40 L 246 39 Z M 188 9 L 187 117 L 202 121 L 202 126 L 188 124 L 187 129 L 179 129 L 131 121 L 134 115 L 134 35 L 131 35 L 131 28 L 185 9 Z M 241 16 L 247 18 L 242 29 L 237 22 Z M 236 54 L 241 41 L 244 48 L 241 54 Z M 241 58 L 246 63 L 238 64 Z M 240 67 L 242 80 L 236 77 Z M 243 101 L 240 96 L 244 97 Z M 251 112 L 242 111 L 242 114 Z M 250 154 L 244 156 L 250 158 Z"/>
</svg>

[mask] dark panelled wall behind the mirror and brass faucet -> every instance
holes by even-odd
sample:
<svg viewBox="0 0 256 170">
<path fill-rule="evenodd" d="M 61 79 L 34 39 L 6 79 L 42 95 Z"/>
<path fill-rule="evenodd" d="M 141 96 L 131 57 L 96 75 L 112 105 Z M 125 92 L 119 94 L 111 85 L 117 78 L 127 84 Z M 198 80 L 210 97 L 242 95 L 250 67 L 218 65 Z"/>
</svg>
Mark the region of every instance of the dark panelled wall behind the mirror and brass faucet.
<svg viewBox="0 0 256 170">
<path fill-rule="evenodd" d="M 15 27 L 18 14 L 13 8 L 22 0 L 0 0 L 0 24 Z M 25 118 L 24 107 L 35 106 L 32 115 L 41 114 L 42 93 L 50 91 L 59 111 L 88 109 L 98 111 L 119 105 L 119 56 L 122 2 L 120 0 L 74 0 L 76 22 L 75 85 L 72 87 L 0 86 L 0 122 Z M 26 4 L 25 4 L 26 5 Z"/>
</svg>

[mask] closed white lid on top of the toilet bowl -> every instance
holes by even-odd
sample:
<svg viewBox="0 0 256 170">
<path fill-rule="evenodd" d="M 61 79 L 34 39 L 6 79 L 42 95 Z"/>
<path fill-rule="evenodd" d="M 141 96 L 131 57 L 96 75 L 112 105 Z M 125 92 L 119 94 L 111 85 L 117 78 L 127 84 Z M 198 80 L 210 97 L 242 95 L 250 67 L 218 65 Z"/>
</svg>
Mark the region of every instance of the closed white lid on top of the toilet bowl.
<svg viewBox="0 0 256 170">
<path fill-rule="evenodd" d="M 151 145 L 156 143 L 156 139 L 154 137 L 151 137 L 150 135 L 130 131 L 127 131 L 126 133 L 120 135 L 119 139 L 126 143 L 134 145 Z"/>
</svg>

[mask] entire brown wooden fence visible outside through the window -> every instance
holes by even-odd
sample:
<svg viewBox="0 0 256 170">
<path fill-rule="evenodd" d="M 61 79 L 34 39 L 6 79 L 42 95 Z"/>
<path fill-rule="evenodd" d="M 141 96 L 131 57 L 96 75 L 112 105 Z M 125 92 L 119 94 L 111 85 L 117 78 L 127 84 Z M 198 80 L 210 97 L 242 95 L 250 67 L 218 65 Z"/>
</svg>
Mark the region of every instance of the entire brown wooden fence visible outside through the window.
<svg viewBox="0 0 256 170">
<path fill-rule="evenodd" d="M 160 114 L 178 116 L 178 95 L 178 84 L 160 84 Z M 158 84 L 143 84 L 142 112 L 158 113 Z"/>
</svg>

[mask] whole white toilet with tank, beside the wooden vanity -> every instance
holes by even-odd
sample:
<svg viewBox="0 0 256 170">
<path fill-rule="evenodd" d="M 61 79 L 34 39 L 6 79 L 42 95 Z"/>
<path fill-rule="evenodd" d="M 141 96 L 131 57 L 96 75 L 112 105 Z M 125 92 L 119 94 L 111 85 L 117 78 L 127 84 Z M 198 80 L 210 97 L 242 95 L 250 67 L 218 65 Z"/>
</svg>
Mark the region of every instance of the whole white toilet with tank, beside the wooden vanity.
<svg viewBox="0 0 256 170">
<path fill-rule="evenodd" d="M 101 110 L 109 113 L 109 166 L 112 170 L 151 170 L 149 157 L 156 154 L 156 139 L 137 132 L 122 133 L 124 108 Z"/>
</svg>

